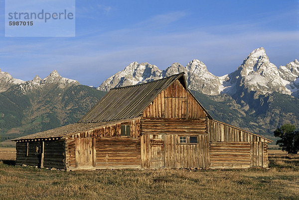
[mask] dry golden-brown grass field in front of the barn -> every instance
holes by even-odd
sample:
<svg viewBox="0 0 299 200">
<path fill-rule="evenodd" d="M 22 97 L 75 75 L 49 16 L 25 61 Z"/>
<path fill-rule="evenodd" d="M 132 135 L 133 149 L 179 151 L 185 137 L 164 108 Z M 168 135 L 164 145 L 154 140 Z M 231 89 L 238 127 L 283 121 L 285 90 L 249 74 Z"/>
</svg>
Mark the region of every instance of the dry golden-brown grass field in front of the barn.
<svg viewBox="0 0 299 200">
<path fill-rule="evenodd" d="M 0 161 L 0 199 L 298 200 L 299 155 L 270 169 L 49 171 Z"/>
</svg>

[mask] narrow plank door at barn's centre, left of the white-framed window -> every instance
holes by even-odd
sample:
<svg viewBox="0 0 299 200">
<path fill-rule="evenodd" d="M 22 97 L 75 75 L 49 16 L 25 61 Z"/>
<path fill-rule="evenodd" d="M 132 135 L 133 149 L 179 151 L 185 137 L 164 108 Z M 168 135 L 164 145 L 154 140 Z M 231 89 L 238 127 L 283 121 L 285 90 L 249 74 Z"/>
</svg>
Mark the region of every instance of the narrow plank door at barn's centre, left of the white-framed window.
<svg viewBox="0 0 299 200">
<path fill-rule="evenodd" d="M 164 167 L 164 139 L 150 139 L 151 168 Z"/>
</svg>

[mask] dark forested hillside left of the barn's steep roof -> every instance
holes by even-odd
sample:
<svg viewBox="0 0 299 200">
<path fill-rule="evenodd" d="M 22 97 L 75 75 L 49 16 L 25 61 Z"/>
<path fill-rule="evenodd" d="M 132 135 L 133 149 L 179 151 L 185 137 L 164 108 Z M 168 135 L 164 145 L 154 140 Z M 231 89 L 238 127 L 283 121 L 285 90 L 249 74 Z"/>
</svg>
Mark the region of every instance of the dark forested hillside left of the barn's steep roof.
<svg viewBox="0 0 299 200">
<path fill-rule="evenodd" d="M 75 123 L 106 94 L 78 84 L 22 88 L 0 93 L 1 141 Z"/>
</svg>

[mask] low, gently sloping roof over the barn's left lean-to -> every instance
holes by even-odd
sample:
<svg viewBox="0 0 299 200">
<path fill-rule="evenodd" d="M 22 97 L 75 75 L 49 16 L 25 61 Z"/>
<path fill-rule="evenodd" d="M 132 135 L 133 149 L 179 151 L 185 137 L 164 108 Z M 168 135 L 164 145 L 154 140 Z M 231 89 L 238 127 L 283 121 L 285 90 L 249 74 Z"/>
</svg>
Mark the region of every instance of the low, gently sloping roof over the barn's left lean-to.
<svg viewBox="0 0 299 200">
<path fill-rule="evenodd" d="M 132 120 L 132 119 L 130 119 Z M 18 140 L 31 140 L 31 139 L 43 139 L 43 138 L 61 138 L 64 136 L 80 133 L 83 131 L 89 131 L 97 128 L 101 128 L 104 126 L 111 126 L 114 124 L 127 122 L 130 120 L 115 120 L 115 121 L 109 121 L 109 122 L 97 122 L 97 123 L 75 123 L 75 124 L 69 124 L 66 126 L 58 127 L 55 129 L 15 138 L 12 141 L 18 141 Z"/>
</svg>

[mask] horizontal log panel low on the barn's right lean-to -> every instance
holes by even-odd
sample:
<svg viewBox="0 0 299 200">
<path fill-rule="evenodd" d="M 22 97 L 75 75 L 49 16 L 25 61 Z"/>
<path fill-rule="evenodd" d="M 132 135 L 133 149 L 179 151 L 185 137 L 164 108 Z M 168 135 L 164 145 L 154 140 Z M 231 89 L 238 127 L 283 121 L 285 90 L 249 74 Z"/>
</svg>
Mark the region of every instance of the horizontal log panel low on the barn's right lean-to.
<svg viewBox="0 0 299 200">
<path fill-rule="evenodd" d="M 210 143 L 211 168 L 250 168 L 249 142 Z"/>
</svg>

